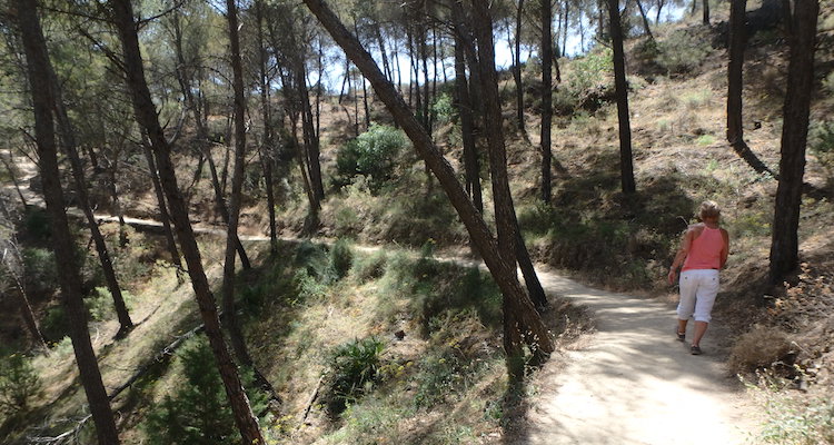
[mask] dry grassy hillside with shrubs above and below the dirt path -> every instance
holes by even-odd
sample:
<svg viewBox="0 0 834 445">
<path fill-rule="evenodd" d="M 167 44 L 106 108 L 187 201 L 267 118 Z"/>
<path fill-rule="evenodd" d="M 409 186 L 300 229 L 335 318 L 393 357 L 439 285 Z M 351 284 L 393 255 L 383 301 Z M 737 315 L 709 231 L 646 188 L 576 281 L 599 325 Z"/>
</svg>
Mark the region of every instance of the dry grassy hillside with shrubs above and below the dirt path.
<svg viewBox="0 0 834 445">
<path fill-rule="evenodd" d="M 668 265 L 682 233 L 695 220 L 697 206 L 707 199 L 722 207 L 722 224 L 732 241 L 714 313 L 716 328 L 706 337 L 708 356 L 704 358 L 708 362 L 704 367 L 712 374 L 704 377 L 704 386 L 719 379 L 719 387 L 735 397 L 739 385 L 733 376 L 741 376 L 748 388 L 739 393 L 739 405 L 731 408 L 765 412 L 756 421 L 762 422 L 758 429 L 762 437 L 770 437 L 767 443 L 813 443 L 802 442 L 803 434 L 810 441 L 833 441 L 834 123 L 828 119 L 834 116 L 834 11 L 825 4 L 820 22 L 807 186 L 798 234 L 801 268 L 780 286 L 766 283 L 777 182 L 772 176 L 756 174 L 725 142 L 725 21 L 722 8 L 714 11 L 711 27 L 687 17 L 653 28 L 653 47 L 645 37 L 626 43 L 637 181 L 634 195 L 619 191 L 609 51 L 597 48 L 558 61 L 562 83 L 554 92 L 555 168 L 549 204 L 542 204 L 537 195 L 540 101 L 535 91 L 540 67 L 533 60 L 524 68 L 524 131 L 513 123 L 512 75 L 502 73 L 510 187 L 534 261 L 543 276 L 558 274 L 605 289 L 548 287 L 550 308 L 544 318 L 559 349 L 544 369 L 529 369 L 524 387 L 506 378 L 500 293 L 477 267 L 479 260 L 471 254 L 466 229 L 436 180 L 427 180 L 423 162 L 405 140 L 386 159 L 391 170 L 380 184 L 370 175 L 344 178 L 339 159 L 355 139 L 350 112 L 339 98 L 326 97 L 320 115 L 320 160 L 327 184 L 319 225 L 312 231 L 307 227 L 302 179 L 292 164 L 292 148 L 285 141 L 280 155 L 284 169 L 277 172 L 276 187 L 282 240 L 276 253 L 270 253 L 259 160 L 251 155 L 239 233 L 254 267 L 238 270 L 236 283 L 255 365 L 277 395 L 269 400 L 252 383 L 251 370 L 244 373 L 267 443 L 546 443 L 540 438 L 546 435 L 535 434 L 536 425 L 542 424 L 536 423 L 537 412 L 532 408 L 542 408 L 542 394 L 550 394 L 556 383 L 564 383 L 562 373 L 582 374 L 598 366 L 607 353 L 605 357 L 598 352 L 593 355 L 597 349 L 588 345 L 612 339 L 606 332 L 610 327 L 605 325 L 610 318 L 598 323 L 605 308 L 588 309 L 577 295 L 598 291 L 612 300 L 645 304 L 654 315 L 668 313 L 677 299 L 676 289 L 665 281 Z M 778 29 L 752 36 L 745 55 L 745 138 L 773 170 L 780 161 L 786 57 L 787 46 Z M 437 89 L 451 90 L 445 85 Z M 276 99 L 276 103 L 280 101 Z M 435 106 L 434 137 L 459 171 L 458 116 L 450 103 L 443 105 Z M 375 123 L 393 123 L 380 102 L 373 101 L 370 107 Z M 221 126 L 224 119 L 212 116 L 209 121 Z M 393 127 L 380 131 L 389 131 L 384 137 L 398 135 Z M 212 202 L 208 172 L 195 175 L 200 162 L 189 147 L 197 144 L 196 129 L 185 127 L 178 138 L 178 179 L 192 185 L 189 211 L 219 298 L 225 241 L 217 229 L 224 225 Z M 230 144 L 216 144 L 211 150 L 216 159 L 224 159 Z M 3 185 L 10 182 L 6 171 L 0 172 Z M 22 167 L 17 174 L 31 176 Z M 38 180 L 27 177 L 30 179 L 33 187 L 27 194 L 34 196 Z M 106 182 L 103 177 L 95 180 Z M 481 182 L 484 214 L 494 227 L 486 168 Z M 7 187 L 10 198 L 4 198 L 3 207 L 6 210 L 8 205 L 9 211 L 3 218 L 17 226 L 8 230 L 3 226 L 3 235 L 17 231 L 17 243 L 26 249 L 31 305 L 50 348 L 29 347 L 17 318 L 0 322 L 0 343 L 8 346 L 3 356 L 26 357 L 39 380 L 39 390 L 31 394 L 27 409 L 0 409 L 0 437 L 8 444 L 31 443 L 33 437 L 53 444 L 62 443 L 63 437 L 93 443 L 72 348 L 63 336 L 66 317 L 59 314 L 46 217 L 38 209 L 12 210 L 20 207 L 12 190 Z M 92 187 L 92 191 L 97 211 L 113 215 L 116 206 L 108 191 L 103 187 Z M 119 195 L 126 216 L 157 219 L 156 197 L 143 170 L 125 168 Z M 123 443 L 171 441 L 161 432 L 177 431 L 189 416 L 216 422 L 211 425 L 219 433 L 211 443 L 236 443 L 219 380 L 201 378 L 210 374 L 201 369 L 214 369 L 214 362 L 201 335 L 192 333 L 200 325 L 193 291 L 182 270 L 171 265 L 158 228 L 139 221 L 136 228 L 127 228 L 129 241 L 120 245 L 118 224 L 101 226 L 113 246 L 117 274 L 137 324 L 127 338 L 116 340 L 119 324 L 109 308 L 95 251 L 83 235 L 81 219 L 75 224 L 85 258 L 90 333 L 105 386 L 111 392 L 121 389 L 112 405 L 119 413 Z M 11 314 L 16 304 L 4 297 L 0 310 Z M 668 319 L 672 339 L 672 315 Z M 652 330 L 646 336 L 654 335 Z M 170 345 L 175 347 L 167 349 Z M 652 347 L 659 359 L 674 354 L 671 350 Z M 636 362 L 634 357 L 641 356 L 638 352 L 627 359 Z M 572 366 L 572 360 L 583 364 L 584 370 Z M 686 364 L 698 366 L 696 362 Z M 629 372 L 657 377 L 634 365 Z M 122 388 L 131 376 L 136 380 Z M 658 379 L 664 378 L 668 382 L 672 377 L 662 373 Z M 727 394 L 715 399 L 725 403 L 728 398 L 721 397 Z M 804 423 L 797 426 L 798 421 Z M 63 433 L 68 435 L 61 437 Z M 623 437 L 633 439 L 625 433 Z M 764 443 L 762 437 L 753 441 Z"/>
</svg>

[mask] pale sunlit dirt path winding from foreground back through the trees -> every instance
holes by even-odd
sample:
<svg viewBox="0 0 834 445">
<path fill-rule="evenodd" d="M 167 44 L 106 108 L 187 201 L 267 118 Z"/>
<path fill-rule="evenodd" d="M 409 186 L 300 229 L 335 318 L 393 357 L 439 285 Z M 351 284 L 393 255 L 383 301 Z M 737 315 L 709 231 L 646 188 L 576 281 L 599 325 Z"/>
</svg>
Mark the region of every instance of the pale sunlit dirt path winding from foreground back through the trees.
<svg viewBox="0 0 834 445">
<path fill-rule="evenodd" d="M 18 166 L 24 197 L 42 206 L 42 199 L 29 190 L 34 165 L 27 160 Z M 109 215 L 96 218 L 117 220 Z M 161 229 L 155 220 L 125 220 Z M 226 235 L 216 227 L 197 226 L 195 231 Z M 241 239 L 265 241 L 269 237 Z M 466 258 L 438 259 L 480 265 Z M 703 342 L 706 354 L 692 356 L 687 344 L 675 339 L 675 313 L 668 305 L 593 289 L 549 270 L 539 270 L 538 276 L 547 294 L 588 307 L 597 332 L 586 347 L 554 355 L 538 372 L 530 383 L 537 393 L 527 422 L 504 437 L 503 444 L 736 445 L 751 437 L 755 409 L 717 355 L 711 354 L 709 337 L 721 335 L 717 324 L 713 323 Z"/>
</svg>

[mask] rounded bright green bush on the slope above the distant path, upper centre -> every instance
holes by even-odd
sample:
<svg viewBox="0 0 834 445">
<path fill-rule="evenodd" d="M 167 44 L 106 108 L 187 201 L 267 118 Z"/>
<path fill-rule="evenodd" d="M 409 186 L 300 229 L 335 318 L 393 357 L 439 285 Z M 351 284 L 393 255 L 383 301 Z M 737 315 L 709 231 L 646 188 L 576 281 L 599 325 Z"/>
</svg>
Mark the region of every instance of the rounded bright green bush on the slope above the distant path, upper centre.
<svg viewBox="0 0 834 445">
<path fill-rule="evenodd" d="M 337 178 L 334 184 L 346 186 L 357 176 L 368 180 L 378 191 L 394 175 L 397 156 L 407 145 L 403 131 L 386 125 L 371 125 L 368 131 L 348 141 L 336 155 Z"/>
</svg>

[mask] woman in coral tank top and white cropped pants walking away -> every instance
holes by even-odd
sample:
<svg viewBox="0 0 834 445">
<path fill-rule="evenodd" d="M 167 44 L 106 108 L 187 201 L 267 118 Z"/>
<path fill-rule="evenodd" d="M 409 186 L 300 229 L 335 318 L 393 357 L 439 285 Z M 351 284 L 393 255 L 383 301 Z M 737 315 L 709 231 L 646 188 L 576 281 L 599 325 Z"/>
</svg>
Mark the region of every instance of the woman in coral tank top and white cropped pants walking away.
<svg viewBox="0 0 834 445">
<path fill-rule="evenodd" d="M 721 209 L 705 201 L 698 211 L 701 222 L 686 229 L 681 248 L 669 268 L 669 284 L 681 269 L 681 301 L 677 305 L 677 339 L 686 339 L 686 324 L 695 319 L 691 352 L 701 354 L 701 339 L 709 325 L 715 296 L 718 294 L 718 270 L 727 263 L 729 235 L 718 226 Z"/>
</svg>

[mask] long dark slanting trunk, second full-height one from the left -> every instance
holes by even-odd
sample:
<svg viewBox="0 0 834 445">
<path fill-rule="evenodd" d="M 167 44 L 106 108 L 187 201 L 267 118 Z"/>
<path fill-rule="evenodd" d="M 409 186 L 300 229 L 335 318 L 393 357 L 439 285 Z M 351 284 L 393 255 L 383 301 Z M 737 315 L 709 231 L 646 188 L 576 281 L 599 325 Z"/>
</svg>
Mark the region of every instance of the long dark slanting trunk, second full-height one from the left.
<svg viewBox="0 0 834 445">
<path fill-rule="evenodd" d="M 125 57 L 125 71 L 130 91 L 131 100 L 137 119 L 145 128 L 150 139 L 151 147 L 159 166 L 160 180 L 171 210 L 171 217 L 177 228 L 177 235 L 182 248 L 182 255 L 188 265 L 188 275 L 191 277 L 191 286 L 200 310 L 200 317 L 206 325 L 206 336 L 217 360 L 217 367 L 229 397 L 229 404 L 235 416 L 235 422 L 247 444 L 262 444 L 258 421 L 252 415 L 249 399 L 244 392 L 237 367 L 229 355 L 226 342 L 220 330 L 220 319 L 215 306 L 206 273 L 202 268 L 200 250 L 195 239 L 191 222 L 188 219 L 188 210 L 182 201 L 182 195 L 177 186 L 177 177 L 170 158 L 170 146 L 165 138 L 162 127 L 157 118 L 157 110 L 151 100 L 148 85 L 145 80 L 145 68 L 142 67 L 141 53 L 139 51 L 139 38 L 137 26 L 133 21 L 133 8 L 129 0 L 112 0 L 112 20 L 119 39 L 121 40 Z"/>
</svg>

